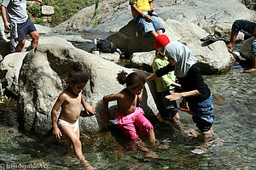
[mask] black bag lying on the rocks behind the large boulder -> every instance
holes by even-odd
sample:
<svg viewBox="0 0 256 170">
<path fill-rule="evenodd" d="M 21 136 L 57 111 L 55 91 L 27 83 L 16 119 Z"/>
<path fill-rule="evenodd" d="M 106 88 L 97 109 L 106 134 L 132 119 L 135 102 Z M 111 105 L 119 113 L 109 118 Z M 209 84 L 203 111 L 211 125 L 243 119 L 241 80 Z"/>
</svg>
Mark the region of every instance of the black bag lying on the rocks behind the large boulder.
<svg viewBox="0 0 256 170">
<path fill-rule="evenodd" d="M 108 40 L 100 39 L 98 42 L 96 42 L 96 50 L 100 51 L 102 53 L 114 53 L 117 51 L 116 46 L 113 42 L 110 42 Z"/>
</svg>

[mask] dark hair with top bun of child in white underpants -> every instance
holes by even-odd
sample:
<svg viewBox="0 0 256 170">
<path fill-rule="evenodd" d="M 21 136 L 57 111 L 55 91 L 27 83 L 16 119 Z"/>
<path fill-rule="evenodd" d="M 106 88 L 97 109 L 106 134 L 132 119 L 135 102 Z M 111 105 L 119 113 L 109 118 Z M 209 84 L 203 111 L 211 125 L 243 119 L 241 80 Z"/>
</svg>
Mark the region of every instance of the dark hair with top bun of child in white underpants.
<svg viewBox="0 0 256 170">
<path fill-rule="evenodd" d="M 79 82 L 85 82 L 87 83 L 90 79 L 90 72 L 84 71 L 82 69 L 82 65 L 79 62 L 73 62 L 71 64 L 72 71 L 68 73 L 67 78 L 65 79 L 65 82 L 73 82 L 73 83 L 79 83 Z"/>
</svg>

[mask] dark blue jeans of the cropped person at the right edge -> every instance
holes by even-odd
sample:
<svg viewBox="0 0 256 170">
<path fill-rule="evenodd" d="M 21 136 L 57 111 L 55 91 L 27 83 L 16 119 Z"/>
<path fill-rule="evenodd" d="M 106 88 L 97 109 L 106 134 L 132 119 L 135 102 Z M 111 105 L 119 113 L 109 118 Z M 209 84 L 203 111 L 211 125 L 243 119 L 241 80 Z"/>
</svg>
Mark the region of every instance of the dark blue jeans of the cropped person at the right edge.
<svg viewBox="0 0 256 170">
<path fill-rule="evenodd" d="M 232 25 L 233 31 L 247 31 L 250 34 L 253 34 L 253 31 L 255 29 L 256 23 L 250 22 L 247 20 L 236 20 Z M 252 42 L 252 54 L 253 56 L 256 56 L 256 39 Z"/>
</svg>

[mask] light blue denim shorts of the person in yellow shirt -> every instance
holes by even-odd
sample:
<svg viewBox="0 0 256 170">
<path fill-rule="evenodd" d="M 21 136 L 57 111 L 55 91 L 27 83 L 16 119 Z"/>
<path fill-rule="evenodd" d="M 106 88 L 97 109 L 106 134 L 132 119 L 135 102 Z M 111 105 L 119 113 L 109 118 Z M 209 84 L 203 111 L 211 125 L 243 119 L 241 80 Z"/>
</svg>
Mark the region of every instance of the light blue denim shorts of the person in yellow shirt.
<svg viewBox="0 0 256 170">
<path fill-rule="evenodd" d="M 144 11 L 143 14 L 148 14 L 148 11 Z M 137 14 L 134 17 L 134 20 L 137 22 L 137 27 L 139 31 L 143 32 L 144 37 L 150 37 L 151 31 L 159 31 L 159 30 L 162 30 L 163 32 L 166 31 L 155 12 L 152 13 L 151 17 L 152 17 L 152 21 L 148 21 L 144 19 L 139 14 Z"/>
</svg>

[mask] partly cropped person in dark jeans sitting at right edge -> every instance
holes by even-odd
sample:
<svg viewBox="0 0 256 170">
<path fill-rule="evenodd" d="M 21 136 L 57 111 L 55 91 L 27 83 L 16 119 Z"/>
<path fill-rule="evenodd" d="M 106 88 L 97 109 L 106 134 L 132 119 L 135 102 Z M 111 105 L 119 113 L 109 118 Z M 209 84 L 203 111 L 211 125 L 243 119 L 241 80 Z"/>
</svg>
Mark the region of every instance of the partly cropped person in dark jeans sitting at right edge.
<svg viewBox="0 0 256 170">
<path fill-rule="evenodd" d="M 232 53 L 236 37 L 238 35 L 238 32 L 247 31 L 248 33 L 252 34 L 253 37 L 256 38 L 256 23 L 247 21 L 247 20 L 236 20 L 231 28 L 231 34 L 230 34 L 230 42 L 226 45 L 229 52 Z M 252 54 L 253 54 L 253 68 L 248 69 L 247 72 L 250 71 L 256 71 L 256 39 L 252 42 Z"/>
</svg>

